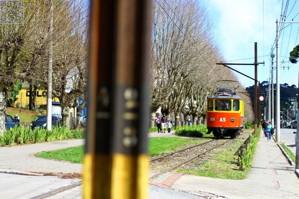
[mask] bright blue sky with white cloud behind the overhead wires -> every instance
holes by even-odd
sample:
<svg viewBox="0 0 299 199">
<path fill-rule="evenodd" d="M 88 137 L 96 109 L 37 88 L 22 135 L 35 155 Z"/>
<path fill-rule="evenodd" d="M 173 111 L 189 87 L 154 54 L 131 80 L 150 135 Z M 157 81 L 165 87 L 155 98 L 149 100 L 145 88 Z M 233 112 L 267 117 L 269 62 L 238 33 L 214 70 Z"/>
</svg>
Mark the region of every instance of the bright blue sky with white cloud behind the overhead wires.
<svg viewBox="0 0 299 199">
<path fill-rule="evenodd" d="M 254 63 L 254 42 L 257 42 L 258 81 L 269 81 L 270 52 L 276 37 L 276 19 L 280 20 L 281 9 L 286 7 L 287 0 L 199 0 L 203 3 L 213 21 L 216 43 L 227 62 Z M 294 6 L 294 7 L 293 7 Z M 292 9 L 293 7 L 293 9 Z M 299 0 L 289 0 L 286 10 L 286 21 L 299 21 Z M 298 14 L 298 15 L 297 15 Z M 297 16 L 296 16 L 297 15 Z M 295 17 L 296 16 L 296 17 Z M 280 35 L 280 61 L 289 61 L 289 52 L 299 44 L 299 23 L 285 24 Z M 297 39 L 297 42 L 296 42 Z M 276 67 L 276 48 L 274 46 L 274 67 Z M 249 58 L 246 60 L 240 60 Z M 222 60 L 219 60 L 222 61 Z M 280 63 L 280 84 L 295 84 L 298 87 L 298 64 Z M 288 69 L 289 67 L 289 69 Z M 254 66 L 232 66 L 254 78 Z M 235 72 L 234 72 L 235 73 Z M 245 87 L 252 86 L 254 81 L 235 73 L 239 83 Z M 276 83 L 276 70 L 274 70 Z"/>
</svg>

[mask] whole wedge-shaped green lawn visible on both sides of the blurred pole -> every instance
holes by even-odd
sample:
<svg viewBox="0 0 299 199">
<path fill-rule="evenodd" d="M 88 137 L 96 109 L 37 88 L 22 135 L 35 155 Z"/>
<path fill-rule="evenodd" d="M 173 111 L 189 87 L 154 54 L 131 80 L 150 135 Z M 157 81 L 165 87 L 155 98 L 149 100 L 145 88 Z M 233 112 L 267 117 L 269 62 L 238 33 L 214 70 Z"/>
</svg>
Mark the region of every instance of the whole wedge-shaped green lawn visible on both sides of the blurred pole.
<svg viewBox="0 0 299 199">
<path fill-rule="evenodd" d="M 206 139 L 190 140 L 185 138 L 149 138 L 149 156 L 156 156 L 176 151 L 187 146 L 199 144 Z M 66 160 L 74 163 L 83 163 L 84 146 L 71 147 L 57 151 L 48 151 L 35 154 L 39 158 Z"/>
</svg>

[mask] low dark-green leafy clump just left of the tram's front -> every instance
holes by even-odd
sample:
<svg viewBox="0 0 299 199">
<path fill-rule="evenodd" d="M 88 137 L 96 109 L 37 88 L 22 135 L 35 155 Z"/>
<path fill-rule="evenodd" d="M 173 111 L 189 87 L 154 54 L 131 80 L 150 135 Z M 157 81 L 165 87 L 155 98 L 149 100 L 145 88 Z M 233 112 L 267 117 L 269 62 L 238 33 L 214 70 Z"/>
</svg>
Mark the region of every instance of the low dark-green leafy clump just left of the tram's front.
<svg viewBox="0 0 299 199">
<path fill-rule="evenodd" d="M 202 137 L 208 132 L 207 125 L 184 125 L 183 127 L 176 127 L 175 135 L 184 135 L 184 136 L 192 136 L 192 137 Z"/>
</svg>

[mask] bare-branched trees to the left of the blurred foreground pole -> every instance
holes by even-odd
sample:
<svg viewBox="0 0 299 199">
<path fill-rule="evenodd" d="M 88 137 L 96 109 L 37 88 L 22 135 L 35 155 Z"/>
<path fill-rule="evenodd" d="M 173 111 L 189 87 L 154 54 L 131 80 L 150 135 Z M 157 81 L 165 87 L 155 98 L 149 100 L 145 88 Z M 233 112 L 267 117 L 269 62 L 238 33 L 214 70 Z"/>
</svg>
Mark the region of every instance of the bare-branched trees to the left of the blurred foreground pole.
<svg viewBox="0 0 299 199">
<path fill-rule="evenodd" d="M 86 1 L 27 0 L 22 24 L 0 24 L 0 133 L 5 129 L 6 104 L 16 82 L 28 81 L 31 91 L 46 88 L 51 44 L 53 95 L 61 102 L 62 122 L 69 125 L 70 108 L 76 106 L 76 98 L 86 95 L 87 13 Z M 30 99 L 34 109 L 34 96 Z"/>
</svg>

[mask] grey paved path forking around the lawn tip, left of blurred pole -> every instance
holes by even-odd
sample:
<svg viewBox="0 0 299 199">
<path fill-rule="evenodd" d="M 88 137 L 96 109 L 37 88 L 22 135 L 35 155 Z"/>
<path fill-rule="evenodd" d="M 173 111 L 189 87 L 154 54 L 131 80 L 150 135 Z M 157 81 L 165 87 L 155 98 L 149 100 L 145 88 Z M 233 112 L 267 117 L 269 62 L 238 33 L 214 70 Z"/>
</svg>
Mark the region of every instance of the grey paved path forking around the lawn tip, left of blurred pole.
<svg viewBox="0 0 299 199">
<path fill-rule="evenodd" d="M 0 169 L 25 172 L 81 173 L 82 164 L 36 158 L 34 153 L 84 144 L 84 139 L 0 147 Z M 31 154 L 31 155 L 30 155 Z"/>
</svg>

